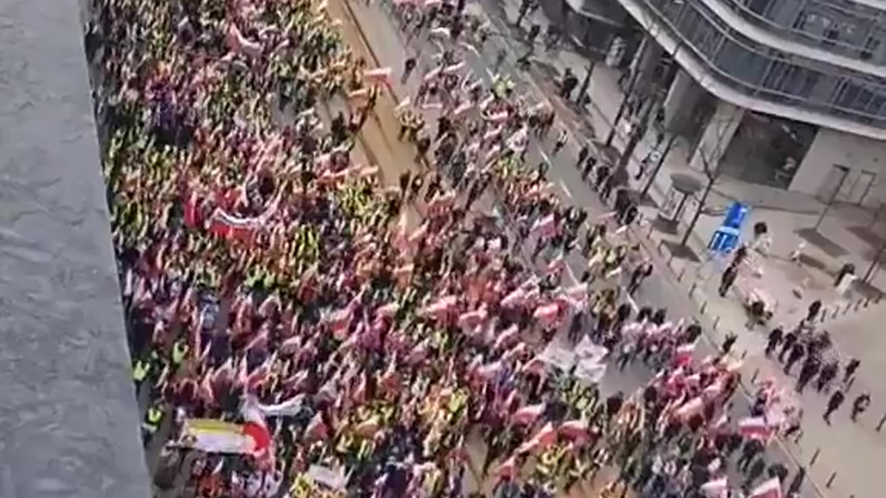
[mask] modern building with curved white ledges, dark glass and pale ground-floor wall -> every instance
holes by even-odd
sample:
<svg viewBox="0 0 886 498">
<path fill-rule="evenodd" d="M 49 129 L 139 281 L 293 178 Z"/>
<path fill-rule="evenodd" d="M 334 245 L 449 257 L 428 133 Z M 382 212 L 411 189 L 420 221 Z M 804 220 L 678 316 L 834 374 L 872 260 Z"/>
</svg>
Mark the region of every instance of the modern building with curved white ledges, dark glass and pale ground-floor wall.
<svg viewBox="0 0 886 498">
<path fill-rule="evenodd" d="M 780 139 L 781 155 L 762 154 L 764 171 L 751 167 L 734 175 L 822 198 L 835 192 L 859 204 L 879 202 L 879 179 L 886 175 L 879 164 L 881 156 L 886 161 L 886 4 L 612 1 L 648 35 L 632 67 L 665 57 L 681 69 L 667 82 L 665 113 L 697 113 L 697 101 L 706 100 L 709 128 L 718 125 L 699 134 L 706 160 L 728 156 L 734 137 L 765 141 L 767 133 L 751 127 L 781 129 L 790 137 Z M 797 143 L 787 144 L 791 140 Z"/>
</svg>

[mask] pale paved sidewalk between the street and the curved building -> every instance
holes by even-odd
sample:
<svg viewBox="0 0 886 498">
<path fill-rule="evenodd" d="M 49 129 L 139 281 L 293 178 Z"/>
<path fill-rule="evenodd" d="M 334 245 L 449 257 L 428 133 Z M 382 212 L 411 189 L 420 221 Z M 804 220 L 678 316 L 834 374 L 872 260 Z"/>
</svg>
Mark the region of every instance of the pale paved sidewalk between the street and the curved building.
<svg viewBox="0 0 886 498">
<path fill-rule="evenodd" d="M 494 0 L 489 0 L 489 3 L 494 3 Z M 497 2 L 495 4 L 501 5 Z M 516 17 L 516 0 L 513 3 L 504 4 L 503 7 L 504 15 L 509 19 Z M 533 14 L 532 18 L 525 22 L 525 25 L 532 22 L 541 26 L 547 24 L 540 12 Z M 499 26 L 501 26 L 501 20 Z M 546 58 L 544 63 L 554 67 L 558 74 L 563 74 L 565 67 L 572 67 L 573 72 L 579 75 L 579 78 L 583 77 L 582 68 L 586 66 L 583 59 L 571 51 L 563 51 L 557 58 Z M 595 68 L 589 88 L 589 94 L 594 104 L 590 106 L 589 113 L 579 119 L 589 120 L 593 123 L 597 136 L 605 136 L 608 133 L 611 122 L 617 113 L 618 104 L 623 96 L 618 89 L 617 82 L 617 71 L 602 65 Z M 567 117 L 567 119 L 569 118 Z M 625 130 L 619 131 L 614 144 L 621 148 L 624 146 Z M 651 137 L 644 137 L 634 153 L 631 162 L 633 167 L 636 167 L 639 158 L 649 152 L 651 146 Z M 689 171 L 703 178 L 700 172 L 693 172 L 687 166 L 687 156 L 688 151 L 682 144 L 669 154 L 657 177 L 656 185 L 651 191 L 654 201 L 660 202 L 664 198 L 663 192 L 668 188 L 666 183 L 669 183 L 672 173 Z M 633 167 L 632 173 L 635 171 Z M 820 227 L 820 233 L 825 239 L 839 240 L 845 248 L 845 253 L 834 255 L 833 251 L 828 253 L 807 242 L 804 253 L 808 258 L 804 258 L 804 261 L 818 261 L 820 266 L 827 270 L 820 271 L 816 270 L 814 265 L 812 265 L 813 268 L 809 268 L 808 264 L 797 266 L 786 261 L 787 255 L 797 247 L 800 241 L 796 231 L 812 227 L 818 220 L 823 208 L 820 202 L 794 192 L 775 191 L 766 187 L 749 186 L 721 178 L 715 186 L 715 191 L 711 194 L 709 206 L 715 205 L 720 209 L 725 208 L 732 198 L 742 199 L 755 207 L 752 210 L 750 222 L 748 222 L 748 230 L 754 222 L 765 220 L 770 226 L 770 231 L 774 232 L 770 252 L 772 255 L 769 258 L 762 256 L 756 258 L 763 268 L 763 276 L 759 278 L 742 276 L 740 287 L 742 289 L 762 287 L 772 292 L 773 295 L 780 296 L 779 310 L 774 322 L 782 322 L 786 325 L 796 324 L 812 300 L 822 300 L 828 311 L 828 321 L 824 326 L 831 330 L 838 349 L 841 350 L 844 357 L 851 354 L 862 360 L 859 381 L 847 396 L 848 399 L 843 409 L 835 416 L 835 424 L 828 426 L 820 419 L 827 398 L 811 392 L 800 397 L 806 413 L 804 438 L 800 441 L 800 445 L 791 444 L 789 449 L 802 464 L 808 464 L 812 455 L 820 450 L 815 464 L 810 469 L 810 474 L 812 479 L 821 486 L 826 485 L 829 480 L 832 481 L 831 488 L 825 492 L 828 496 L 849 497 L 851 494 L 854 494 L 856 498 L 879 496 L 881 493 L 877 487 L 879 475 L 876 462 L 886 456 L 886 447 L 884 447 L 886 443 L 874 428 L 880 421 L 884 407 L 886 407 L 886 390 L 879 387 L 879 383 L 876 381 L 876 377 L 882 371 L 875 370 L 882 365 L 882 362 L 876 361 L 875 351 L 879 350 L 876 347 L 879 344 L 876 338 L 869 337 L 870 332 L 864 333 L 863 330 L 866 324 L 869 330 L 870 323 L 876 323 L 876 319 L 880 316 L 886 319 L 886 311 L 884 311 L 886 307 L 875 305 L 873 301 L 868 303 L 868 307 L 864 306 L 864 301 L 858 305 L 858 296 L 855 297 L 855 300 L 845 300 L 836 296 L 830 282 L 832 278 L 828 275 L 829 272 L 835 271 L 835 268 L 843 261 L 854 261 L 859 272 L 865 271 L 867 267 L 861 263 L 863 258 L 859 257 L 859 254 L 866 255 L 863 251 L 864 244 L 858 243 L 859 237 L 856 232 L 862 231 L 858 230 L 858 227 L 864 227 L 865 223 L 870 222 L 871 215 L 850 206 L 832 207 L 830 214 Z M 691 216 L 694 207 L 689 206 L 687 217 Z M 654 206 L 645 206 L 642 213 L 647 220 L 654 220 L 657 210 Z M 710 237 L 713 230 L 719 225 L 719 218 L 720 216 L 706 215 L 700 218 L 695 234 L 689 240 L 690 248 L 694 249 L 696 253 L 704 254 L 706 238 Z M 847 221 L 851 225 L 848 229 L 846 228 Z M 758 331 L 746 330 L 747 315 L 744 313 L 739 296 L 735 295 L 740 292 L 735 292 L 726 299 L 721 299 L 716 294 L 719 272 L 722 271 L 724 262 L 694 263 L 672 258 L 668 244 L 672 244 L 677 238 L 652 230 L 649 224 L 645 224 L 644 227 L 642 232 L 650 237 L 650 245 L 661 247 L 663 257 L 659 260 L 659 266 L 666 265 L 671 268 L 675 280 L 680 277 L 679 281 L 684 292 L 689 294 L 691 290 L 691 298 L 696 302 L 699 313 L 704 316 L 707 323 L 711 325 L 714 322 L 717 323 L 716 330 L 710 332 L 711 338 L 719 341 L 725 338 L 728 331 L 739 333 L 740 338 L 735 348 L 738 351 L 746 350 L 748 352 L 743 370 L 746 372 L 745 375 L 754 377 L 756 373 L 758 378 L 772 377 L 783 385 L 793 385 L 794 379 L 785 377 L 781 373 L 779 365 L 766 359 L 762 354 L 767 331 L 762 329 Z M 882 229 L 882 226 L 874 225 L 874 229 Z M 745 234 L 745 236 L 747 235 Z M 664 244 L 660 245 L 663 241 Z M 868 249 L 869 247 L 870 245 L 868 245 Z M 867 257 L 871 258 L 869 254 Z M 797 299 L 794 297 L 793 291 L 800 288 L 803 291 L 803 298 Z M 847 315 L 843 315 L 846 306 L 850 307 L 849 312 Z M 858 306 L 858 310 L 856 310 L 856 306 Z M 837 315 L 836 318 L 834 318 L 834 313 Z M 711 328 L 713 327 L 711 326 Z M 858 424 L 851 424 L 848 421 L 851 401 L 862 389 L 871 392 L 874 402 L 866 417 L 863 417 Z M 834 476 L 833 479 L 831 479 L 832 476 Z"/>
</svg>

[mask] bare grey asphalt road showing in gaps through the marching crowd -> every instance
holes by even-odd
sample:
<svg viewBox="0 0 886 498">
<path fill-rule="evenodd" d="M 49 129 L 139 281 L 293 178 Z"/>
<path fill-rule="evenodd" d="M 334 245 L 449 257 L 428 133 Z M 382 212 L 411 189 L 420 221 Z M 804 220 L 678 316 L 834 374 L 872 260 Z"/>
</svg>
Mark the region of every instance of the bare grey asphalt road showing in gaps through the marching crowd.
<svg viewBox="0 0 886 498">
<path fill-rule="evenodd" d="M 481 4 L 497 33 L 511 33 L 512 28 L 509 26 L 507 20 L 501 18 L 501 14 L 504 12 L 501 3 L 496 2 L 495 0 L 484 0 Z M 372 29 L 363 29 L 362 31 L 366 40 L 369 42 L 369 45 L 371 45 L 372 51 L 375 53 L 381 64 L 392 66 L 395 74 L 399 75 L 397 71 L 400 70 L 402 61 L 407 57 L 406 54 L 414 55 L 416 52 L 422 54 L 426 61 L 424 63 L 425 67 L 431 64 L 431 55 L 439 49 L 435 47 L 434 43 L 423 41 L 421 39 L 412 39 L 407 42 L 405 39 L 406 37 L 401 34 L 396 23 L 394 23 L 389 17 L 384 5 L 376 4 L 367 6 L 359 2 L 351 2 L 350 6 L 362 26 L 372 27 Z M 558 114 L 560 114 L 559 111 L 564 110 L 566 106 L 563 105 L 562 102 L 559 102 L 558 97 L 549 93 L 550 90 L 554 88 L 554 85 L 550 81 L 550 76 L 544 74 L 541 70 L 531 70 L 527 74 L 526 72 L 518 70 L 513 64 L 513 61 L 519 55 L 524 53 L 525 49 L 522 47 L 523 44 L 521 42 L 508 35 L 494 35 L 491 36 L 486 43 L 485 50 L 480 52 L 480 57 L 471 55 L 470 52 L 466 52 L 465 60 L 470 65 L 474 77 L 481 77 L 488 83 L 492 80 L 492 71 L 490 68 L 494 66 L 495 54 L 500 49 L 504 49 L 507 51 L 509 57 L 500 66 L 499 73 L 508 75 L 517 83 L 517 89 L 524 91 L 527 95 L 531 96 L 532 100 L 539 101 L 544 99 L 550 101 L 551 104 L 555 106 L 555 109 L 558 110 Z M 537 52 L 540 53 L 540 51 Z M 543 55 L 540 55 L 540 57 L 543 57 Z M 419 67 L 423 67 L 423 64 L 420 63 Z M 421 72 L 419 72 L 419 74 L 421 74 Z M 576 74 L 582 74 L 578 68 L 576 69 Z M 415 89 L 417 88 L 416 80 L 418 80 L 419 77 L 420 76 L 416 75 L 412 76 L 412 81 L 409 82 L 408 89 L 397 85 L 395 91 L 400 93 L 398 98 L 406 97 L 407 91 L 414 95 Z M 431 120 L 429 120 L 429 122 L 430 121 Z M 581 136 L 583 131 L 584 130 L 581 129 L 571 128 L 573 138 L 566 145 L 565 149 L 556 156 L 550 154 L 555 139 L 554 137 L 556 136 L 556 128 L 555 130 L 552 130 L 552 133 L 548 137 L 548 143 L 546 144 L 540 144 L 537 140 L 533 139 L 528 149 L 527 161 L 529 164 L 548 161 L 550 164 L 548 179 L 556 186 L 557 192 L 562 200 L 573 205 L 583 206 L 587 209 L 588 213 L 591 214 L 591 218 L 593 219 L 595 215 L 605 214 L 609 212 L 610 209 L 607 206 L 604 206 L 601 200 L 596 196 L 595 192 L 589 188 L 587 183 L 581 180 L 579 172 L 575 168 L 575 158 L 578 154 L 580 144 L 574 136 Z M 598 135 L 608 132 L 608 130 L 597 131 Z M 575 254 L 571 255 L 567 262 L 570 268 L 567 273 L 571 273 L 570 277 L 573 279 L 575 275 L 580 275 L 584 270 L 585 262 Z M 661 261 L 657 261 L 657 263 L 659 268 L 661 268 Z M 692 317 L 697 315 L 696 306 L 688 299 L 686 291 L 664 269 L 658 269 L 652 276 L 649 276 L 649 278 L 647 278 L 642 284 L 641 289 L 635 298 L 638 306 L 649 305 L 652 307 L 666 307 L 668 309 L 669 317 L 674 321 L 678 320 L 680 317 Z M 710 326 L 710 323 L 703 323 L 703 325 Z M 696 354 L 698 357 L 704 357 L 713 353 L 714 347 L 711 346 L 709 341 L 702 341 L 702 343 L 696 347 Z M 638 388 L 641 388 L 641 386 L 646 385 L 649 382 L 651 375 L 652 372 L 636 363 L 621 372 L 616 369 L 611 369 L 603 378 L 601 385 L 602 392 L 614 393 L 616 391 L 622 391 L 624 393 L 633 393 Z M 736 395 L 732 412 L 733 420 L 741 419 L 749 413 L 749 400 L 743 395 Z M 766 460 L 767 463 L 782 463 L 791 469 L 792 472 L 797 467 L 795 460 L 788 455 L 784 448 L 777 442 L 771 444 L 770 447 L 767 448 Z M 736 472 L 733 472 L 731 474 L 731 477 L 732 476 L 736 476 L 736 479 L 731 479 L 732 482 L 741 482 L 742 479 L 738 477 Z M 793 476 L 790 476 L 789 480 L 792 479 L 792 477 Z M 819 492 L 814 486 L 810 486 L 807 479 L 804 482 L 804 486 L 801 488 L 801 496 L 804 498 L 812 498 L 813 496 L 819 495 Z"/>
</svg>

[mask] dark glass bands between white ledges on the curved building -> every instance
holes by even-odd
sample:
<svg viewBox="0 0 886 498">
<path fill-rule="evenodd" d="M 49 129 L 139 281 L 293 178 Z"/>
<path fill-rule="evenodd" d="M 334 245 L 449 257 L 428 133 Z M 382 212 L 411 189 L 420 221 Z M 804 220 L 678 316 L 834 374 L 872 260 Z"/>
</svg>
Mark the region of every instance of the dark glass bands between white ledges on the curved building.
<svg viewBox="0 0 886 498">
<path fill-rule="evenodd" d="M 875 9 L 843 0 L 716 1 L 812 48 L 871 64 L 883 58 L 883 12 Z M 683 41 L 683 50 L 693 51 L 720 82 L 743 94 L 886 128 L 886 79 L 758 43 L 727 24 L 703 0 L 639 2 L 660 27 Z"/>
</svg>

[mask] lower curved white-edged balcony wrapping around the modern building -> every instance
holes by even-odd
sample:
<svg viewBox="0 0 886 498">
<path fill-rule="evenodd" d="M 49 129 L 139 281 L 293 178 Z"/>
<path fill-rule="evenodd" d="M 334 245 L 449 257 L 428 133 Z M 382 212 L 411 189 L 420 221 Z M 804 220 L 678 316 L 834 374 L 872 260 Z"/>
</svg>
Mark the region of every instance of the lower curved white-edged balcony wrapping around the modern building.
<svg viewBox="0 0 886 498">
<path fill-rule="evenodd" d="M 710 1 L 618 0 L 714 95 L 756 111 L 886 139 L 886 78 L 758 43 L 721 19 Z"/>
</svg>

